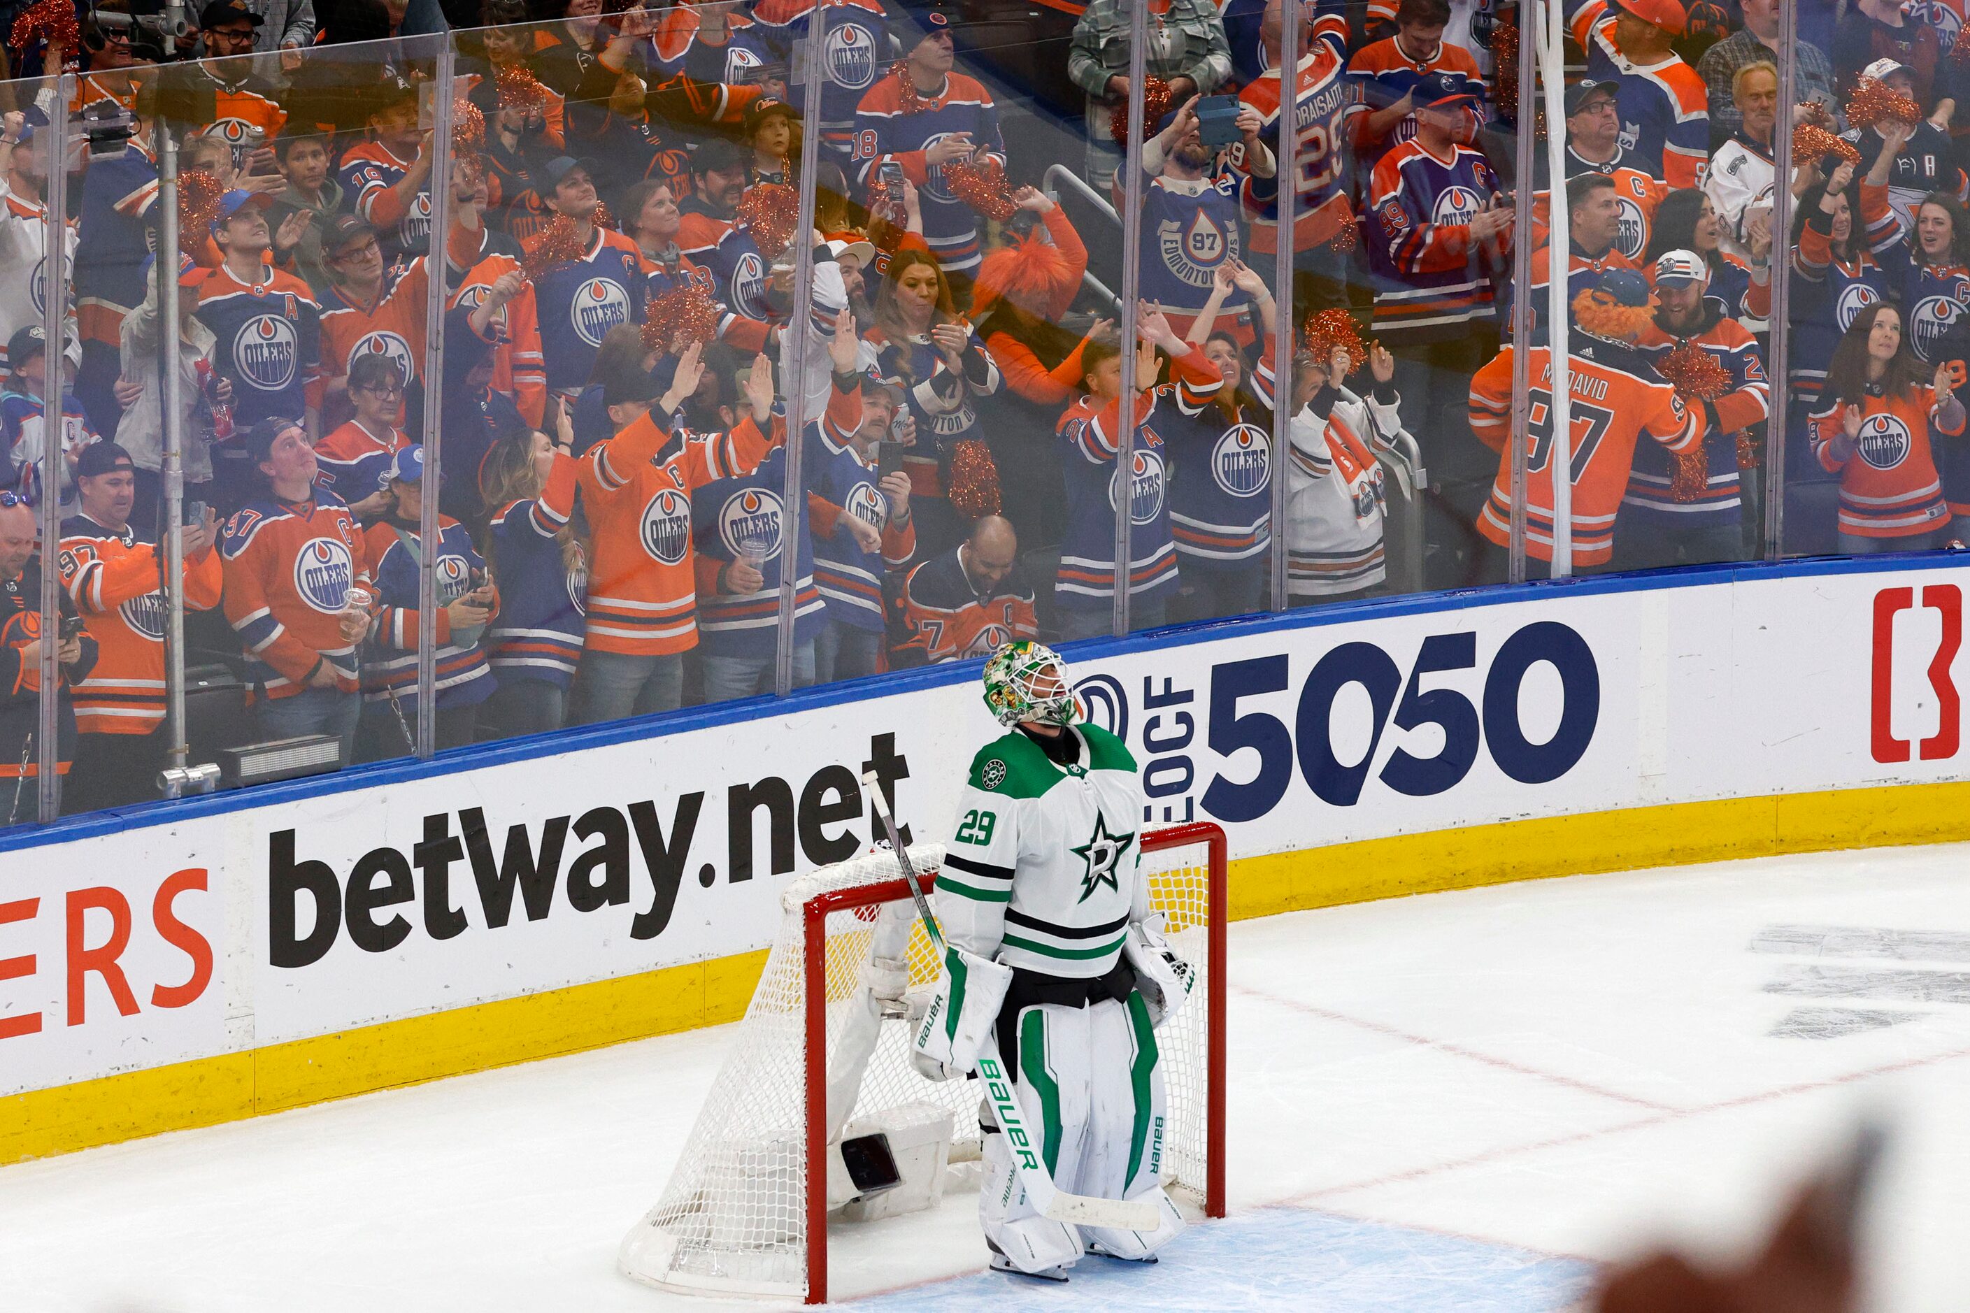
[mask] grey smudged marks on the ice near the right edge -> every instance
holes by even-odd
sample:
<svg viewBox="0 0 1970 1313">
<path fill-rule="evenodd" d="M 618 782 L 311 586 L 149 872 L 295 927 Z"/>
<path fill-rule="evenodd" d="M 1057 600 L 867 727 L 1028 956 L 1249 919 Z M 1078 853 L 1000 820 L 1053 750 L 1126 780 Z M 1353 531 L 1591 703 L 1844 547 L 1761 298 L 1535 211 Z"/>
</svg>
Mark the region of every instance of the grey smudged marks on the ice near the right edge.
<svg viewBox="0 0 1970 1313">
<path fill-rule="evenodd" d="M 1777 953 L 1810 961 L 1779 963 L 1765 982 L 1767 994 L 1799 998 L 1854 998 L 1875 1004 L 1970 1004 L 1970 972 L 1921 963 L 1970 963 L 1970 935 L 1960 931 L 1885 929 L 1872 925 L 1767 925 L 1749 943 L 1751 953 Z M 1826 959 L 1856 959 L 1828 963 Z M 1911 963 L 1873 967 L 1866 963 Z M 1856 965 L 1860 963 L 1860 965 Z M 1779 1039 L 1840 1039 L 1927 1016 L 1923 1010 L 1795 1008 L 1771 1035 Z"/>
</svg>

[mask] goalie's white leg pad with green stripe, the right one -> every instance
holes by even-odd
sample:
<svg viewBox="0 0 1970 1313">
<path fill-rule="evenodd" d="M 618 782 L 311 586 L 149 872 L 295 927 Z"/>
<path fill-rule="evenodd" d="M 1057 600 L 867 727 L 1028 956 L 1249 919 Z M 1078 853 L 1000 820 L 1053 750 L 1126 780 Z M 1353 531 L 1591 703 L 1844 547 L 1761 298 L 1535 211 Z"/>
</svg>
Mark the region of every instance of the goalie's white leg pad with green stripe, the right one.
<svg viewBox="0 0 1970 1313">
<path fill-rule="evenodd" d="M 1156 1028 L 1139 992 L 1125 1002 L 1093 1004 L 1087 1014 L 1093 1075 L 1087 1150 L 1078 1177 L 1060 1185 L 1101 1199 L 1156 1197 L 1162 1219 L 1154 1230 L 1078 1228 L 1085 1244 L 1115 1258 L 1143 1260 L 1184 1230 L 1184 1217 L 1160 1181 L 1168 1102 Z"/>
</svg>

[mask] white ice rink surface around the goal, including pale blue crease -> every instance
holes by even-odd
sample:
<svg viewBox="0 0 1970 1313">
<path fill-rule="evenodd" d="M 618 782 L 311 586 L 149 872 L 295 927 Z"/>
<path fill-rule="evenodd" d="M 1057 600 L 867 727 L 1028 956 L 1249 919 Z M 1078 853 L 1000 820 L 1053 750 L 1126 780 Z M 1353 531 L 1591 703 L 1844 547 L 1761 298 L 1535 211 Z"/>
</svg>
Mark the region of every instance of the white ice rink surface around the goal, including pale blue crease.
<svg viewBox="0 0 1970 1313">
<path fill-rule="evenodd" d="M 1745 1244 L 1864 1112 L 1873 1307 L 1962 1307 L 1970 848 L 1580 876 L 1231 929 L 1231 1207 L 1164 1264 L 981 1274 L 971 1195 L 837 1230 L 857 1307 L 1562 1309 Z M 0 1169 L 0 1309 L 747 1307 L 615 1272 L 731 1030 Z"/>
</svg>

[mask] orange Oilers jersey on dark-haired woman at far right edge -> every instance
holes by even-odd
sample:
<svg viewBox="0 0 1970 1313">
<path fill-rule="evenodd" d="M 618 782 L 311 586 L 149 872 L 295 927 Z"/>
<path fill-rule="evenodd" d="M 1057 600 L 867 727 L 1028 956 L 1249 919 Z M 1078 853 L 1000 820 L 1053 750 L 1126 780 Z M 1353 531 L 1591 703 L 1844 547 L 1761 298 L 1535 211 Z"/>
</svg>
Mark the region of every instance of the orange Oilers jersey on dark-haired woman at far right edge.
<svg viewBox="0 0 1970 1313">
<path fill-rule="evenodd" d="M 1942 528 L 1950 510 L 1937 478 L 1931 429 L 1962 437 L 1931 417 L 1937 394 L 1919 384 L 1911 396 L 1870 396 L 1860 407 L 1860 437 L 1846 443 L 1844 404 L 1812 415 L 1812 455 L 1840 474 L 1840 531 L 1860 537 L 1907 537 Z M 1842 457 L 1838 447 L 1852 445 Z"/>
</svg>

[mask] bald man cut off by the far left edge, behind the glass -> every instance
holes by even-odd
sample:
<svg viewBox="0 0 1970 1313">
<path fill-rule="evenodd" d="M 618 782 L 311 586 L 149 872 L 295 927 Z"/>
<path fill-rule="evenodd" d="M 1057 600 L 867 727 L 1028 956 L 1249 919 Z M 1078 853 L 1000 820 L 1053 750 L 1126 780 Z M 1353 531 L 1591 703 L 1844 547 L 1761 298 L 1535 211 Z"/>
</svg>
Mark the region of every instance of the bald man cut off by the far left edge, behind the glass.
<svg viewBox="0 0 1970 1313">
<path fill-rule="evenodd" d="M 37 524 L 33 508 L 12 492 L 0 492 L 0 805 L 4 825 L 35 819 L 41 746 L 41 561 L 35 557 Z M 65 630 L 75 636 L 61 644 L 61 685 L 57 720 L 59 772 L 75 760 L 75 705 L 69 687 L 89 677 L 97 663 L 97 640 L 83 632 L 83 618 L 67 593 L 57 594 Z"/>
</svg>

